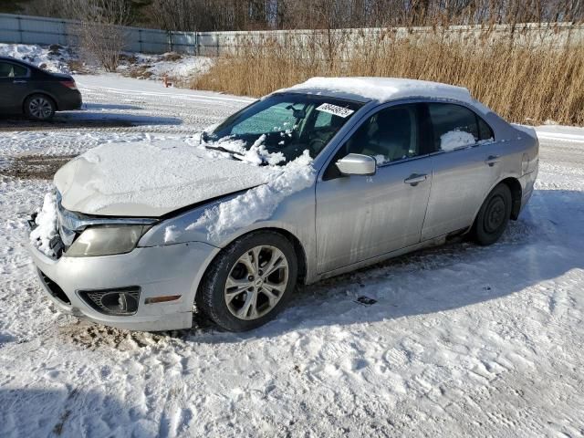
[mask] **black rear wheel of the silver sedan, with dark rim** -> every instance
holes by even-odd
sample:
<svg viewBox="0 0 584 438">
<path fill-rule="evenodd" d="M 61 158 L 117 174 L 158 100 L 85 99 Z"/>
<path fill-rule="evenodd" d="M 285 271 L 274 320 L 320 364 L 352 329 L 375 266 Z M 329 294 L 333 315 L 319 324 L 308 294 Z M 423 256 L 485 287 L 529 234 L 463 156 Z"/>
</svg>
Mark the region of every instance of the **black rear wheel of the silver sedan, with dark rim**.
<svg viewBox="0 0 584 438">
<path fill-rule="evenodd" d="M 488 194 L 474 220 L 474 240 L 479 245 L 493 245 L 505 232 L 511 217 L 513 199 L 506 184 L 495 186 Z"/>
</svg>

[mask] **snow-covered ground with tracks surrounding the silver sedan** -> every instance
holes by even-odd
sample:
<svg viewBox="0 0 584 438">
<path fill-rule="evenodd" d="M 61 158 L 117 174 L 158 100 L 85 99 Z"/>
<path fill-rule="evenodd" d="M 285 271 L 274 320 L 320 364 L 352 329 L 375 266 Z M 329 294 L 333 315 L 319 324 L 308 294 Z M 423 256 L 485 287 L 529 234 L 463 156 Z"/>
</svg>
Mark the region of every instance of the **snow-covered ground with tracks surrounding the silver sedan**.
<svg viewBox="0 0 584 438">
<path fill-rule="evenodd" d="M 144 121 L 0 122 L 0 170 L 23 154 L 185 140 L 249 101 L 77 80 L 88 110 L 67 117 Z M 26 215 L 49 182 L 0 172 L 0 436 L 584 435 L 584 137 L 538 131 L 537 190 L 498 244 L 452 243 L 302 287 L 245 334 L 203 320 L 130 333 L 57 313 L 25 250 Z"/>
</svg>

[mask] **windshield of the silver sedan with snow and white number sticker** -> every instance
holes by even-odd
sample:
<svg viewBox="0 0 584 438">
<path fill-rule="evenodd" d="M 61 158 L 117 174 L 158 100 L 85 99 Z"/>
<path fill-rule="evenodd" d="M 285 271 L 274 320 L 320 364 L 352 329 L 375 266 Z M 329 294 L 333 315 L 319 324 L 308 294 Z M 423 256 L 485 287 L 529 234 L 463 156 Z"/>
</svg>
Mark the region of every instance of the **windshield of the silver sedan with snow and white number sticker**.
<svg viewBox="0 0 584 438">
<path fill-rule="evenodd" d="M 315 158 L 362 104 L 352 100 L 307 94 L 276 94 L 236 112 L 203 136 L 204 141 L 243 144 L 283 156 L 284 164 L 308 151 Z M 213 146 L 208 146 L 213 149 Z M 240 153 L 239 151 L 235 151 Z"/>
</svg>

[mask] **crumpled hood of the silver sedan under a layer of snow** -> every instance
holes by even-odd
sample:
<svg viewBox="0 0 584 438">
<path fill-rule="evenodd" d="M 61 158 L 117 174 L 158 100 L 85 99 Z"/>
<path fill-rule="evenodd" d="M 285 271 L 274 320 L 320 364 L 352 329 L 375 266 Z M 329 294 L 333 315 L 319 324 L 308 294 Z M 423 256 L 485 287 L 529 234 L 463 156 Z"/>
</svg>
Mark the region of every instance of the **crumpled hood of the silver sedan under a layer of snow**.
<svg viewBox="0 0 584 438">
<path fill-rule="evenodd" d="M 69 211 L 110 216 L 161 216 L 193 203 L 266 183 L 272 166 L 183 141 L 105 144 L 55 175 Z"/>
</svg>

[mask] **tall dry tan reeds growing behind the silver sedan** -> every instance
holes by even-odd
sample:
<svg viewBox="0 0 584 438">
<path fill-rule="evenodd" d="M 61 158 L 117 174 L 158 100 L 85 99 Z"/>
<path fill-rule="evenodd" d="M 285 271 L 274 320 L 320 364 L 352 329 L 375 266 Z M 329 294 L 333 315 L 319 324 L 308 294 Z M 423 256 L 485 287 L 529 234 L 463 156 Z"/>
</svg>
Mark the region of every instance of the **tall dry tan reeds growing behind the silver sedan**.
<svg viewBox="0 0 584 438">
<path fill-rule="evenodd" d="M 314 76 L 427 79 L 459 85 L 506 120 L 584 125 L 584 47 L 481 44 L 433 36 L 248 43 L 194 78 L 192 88 L 262 96 Z"/>
</svg>

